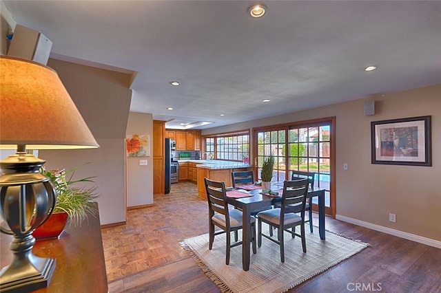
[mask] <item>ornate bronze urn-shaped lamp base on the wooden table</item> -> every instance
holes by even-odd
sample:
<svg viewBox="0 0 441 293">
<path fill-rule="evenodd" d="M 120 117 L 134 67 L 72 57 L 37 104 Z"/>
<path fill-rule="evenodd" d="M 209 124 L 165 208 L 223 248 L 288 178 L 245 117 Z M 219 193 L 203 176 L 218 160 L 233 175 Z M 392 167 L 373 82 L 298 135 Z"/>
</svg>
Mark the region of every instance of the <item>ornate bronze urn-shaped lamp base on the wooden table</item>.
<svg viewBox="0 0 441 293">
<path fill-rule="evenodd" d="M 30 292 L 47 287 L 55 259 L 32 253 L 32 232 L 52 214 L 57 194 L 48 177 L 39 173 L 44 160 L 24 152 L 0 161 L 0 231 L 12 235 L 12 262 L 0 271 L 0 292 Z"/>
</svg>

